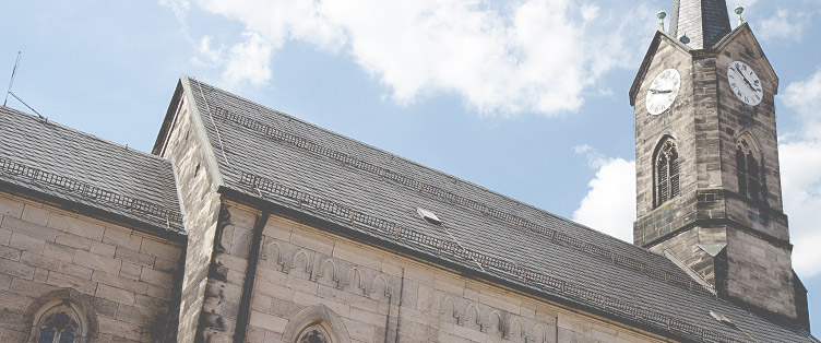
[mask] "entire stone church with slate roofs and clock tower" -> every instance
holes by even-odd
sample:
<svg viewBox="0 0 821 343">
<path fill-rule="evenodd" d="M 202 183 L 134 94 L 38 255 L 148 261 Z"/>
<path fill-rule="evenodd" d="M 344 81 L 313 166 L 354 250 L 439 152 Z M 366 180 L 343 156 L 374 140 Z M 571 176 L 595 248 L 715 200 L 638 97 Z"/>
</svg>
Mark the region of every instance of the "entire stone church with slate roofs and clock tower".
<svg viewBox="0 0 821 343">
<path fill-rule="evenodd" d="M 188 76 L 151 153 L 0 107 L 0 342 L 819 342 L 737 14 L 639 66 L 633 244 Z"/>
</svg>

